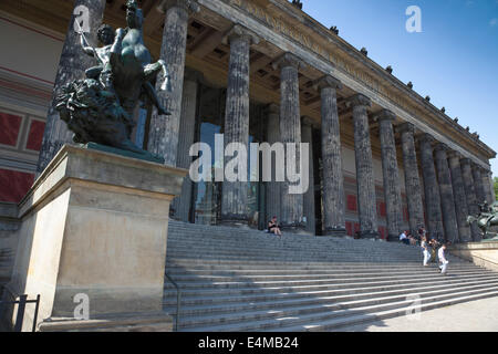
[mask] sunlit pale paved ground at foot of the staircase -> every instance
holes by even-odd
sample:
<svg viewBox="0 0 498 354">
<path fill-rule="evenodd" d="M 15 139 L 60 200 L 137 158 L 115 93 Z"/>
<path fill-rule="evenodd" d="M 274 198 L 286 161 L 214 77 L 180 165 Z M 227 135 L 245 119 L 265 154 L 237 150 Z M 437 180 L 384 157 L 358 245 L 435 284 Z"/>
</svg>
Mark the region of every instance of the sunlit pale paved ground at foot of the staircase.
<svg viewBox="0 0 498 354">
<path fill-rule="evenodd" d="M 425 311 L 419 320 L 402 316 L 343 332 L 498 332 L 498 298 Z"/>
</svg>

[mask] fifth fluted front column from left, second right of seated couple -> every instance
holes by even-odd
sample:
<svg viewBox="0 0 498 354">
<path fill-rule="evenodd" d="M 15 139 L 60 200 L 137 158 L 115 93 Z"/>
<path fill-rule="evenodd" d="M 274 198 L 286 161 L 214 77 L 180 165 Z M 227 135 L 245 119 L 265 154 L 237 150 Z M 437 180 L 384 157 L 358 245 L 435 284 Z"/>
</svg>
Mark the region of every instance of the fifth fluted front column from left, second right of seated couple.
<svg viewBox="0 0 498 354">
<path fill-rule="evenodd" d="M 342 173 L 341 128 L 338 113 L 339 80 L 324 76 L 315 82 L 321 95 L 323 232 L 345 236 L 344 176 Z"/>
</svg>

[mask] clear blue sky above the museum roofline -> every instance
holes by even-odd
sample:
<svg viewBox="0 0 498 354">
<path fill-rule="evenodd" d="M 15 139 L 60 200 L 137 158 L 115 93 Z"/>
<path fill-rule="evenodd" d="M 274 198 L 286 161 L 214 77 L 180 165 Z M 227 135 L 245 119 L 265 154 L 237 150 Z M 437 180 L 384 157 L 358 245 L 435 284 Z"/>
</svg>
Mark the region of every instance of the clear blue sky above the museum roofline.
<svg viewBox="0 0 498 354">
<path fill-rule="evenodd" d="M 303 11 L 422 96 L 458 117 L 498 152 L 498 0 L 302 0 Z M 422 10 L 422 32 L 408 33 L 409 6 Z M 491 160 L 498 176 L 498 160 Z"/>
</svg>

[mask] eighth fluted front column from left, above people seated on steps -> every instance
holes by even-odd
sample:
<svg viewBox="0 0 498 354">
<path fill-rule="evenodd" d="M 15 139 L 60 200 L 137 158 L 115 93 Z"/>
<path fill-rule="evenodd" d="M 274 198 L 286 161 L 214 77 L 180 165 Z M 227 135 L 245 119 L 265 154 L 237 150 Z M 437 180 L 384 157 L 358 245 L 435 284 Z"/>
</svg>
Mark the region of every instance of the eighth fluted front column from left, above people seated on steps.
<svg viewBox="0 0 498 354">
<path fill-rule="evenodd" d="M 417 235 L 418 227 L 424 221 L 424 205 L 422 202 L 422 186 L 418 174 L 417 155 L 415 150 L 414 131 L 411 123 L 404 123 L 398 128 L 403 149 L 403 167 L 405 173 L 406 201 L 408 205 L 409 229 Z"/>
</svg>

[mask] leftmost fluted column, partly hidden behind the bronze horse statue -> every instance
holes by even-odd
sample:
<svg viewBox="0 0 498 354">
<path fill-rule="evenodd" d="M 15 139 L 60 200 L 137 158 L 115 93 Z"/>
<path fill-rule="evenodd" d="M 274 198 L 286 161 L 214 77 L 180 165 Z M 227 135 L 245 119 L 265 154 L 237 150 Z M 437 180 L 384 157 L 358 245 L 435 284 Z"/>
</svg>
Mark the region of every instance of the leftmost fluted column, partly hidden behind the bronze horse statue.
<svg viewBox="0 0 498 354">
<path fill-rule="evenodd" d="M 73 142 L 73 134 L 68 129 L 66 124 L 59 118 L 59 112 L 55 108 L 56 97 L 61 93 L 62 86 L 73 80 L 84 79 L 85 70 L 96 64 L 96 61 L 85 54 L 81 48 L 80 34 L 76 32 L 79 28 L 74 19 L 79 19 L 79 23 L 83 30 L 90 29 L 90 32 L 84 33 L 85 38 L 91 45 L 97 46 L 96 31 L 102 24 L 105 3 L 105 0 L 74 1 L 73 14 L 69 22 L 64 45 L 62 46 L 62 53 L 59 60 L 52 102 L 46 115 L 45 131 L 37 166 L 38 174 L 43 171 L 62 145 Z"/>
</svg>

